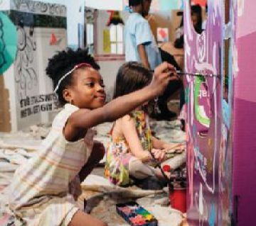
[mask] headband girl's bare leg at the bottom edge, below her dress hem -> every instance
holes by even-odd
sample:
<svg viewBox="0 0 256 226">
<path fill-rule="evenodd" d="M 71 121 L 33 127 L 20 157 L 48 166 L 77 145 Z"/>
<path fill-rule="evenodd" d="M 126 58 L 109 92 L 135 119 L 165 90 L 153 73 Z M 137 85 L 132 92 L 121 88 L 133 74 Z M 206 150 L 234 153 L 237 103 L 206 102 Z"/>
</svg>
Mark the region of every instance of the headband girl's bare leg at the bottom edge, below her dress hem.
<svg viewBox="0 0 256 226">
<path fill-rule="evenodd" d="M 78 210 L 77 213 L 73 216 L 72 220 L 68 226 L 107 226 L 105 222 L 98 220 L 95 217 L 87 213 L 83 213 L 81 210 Z"/>
</svg>

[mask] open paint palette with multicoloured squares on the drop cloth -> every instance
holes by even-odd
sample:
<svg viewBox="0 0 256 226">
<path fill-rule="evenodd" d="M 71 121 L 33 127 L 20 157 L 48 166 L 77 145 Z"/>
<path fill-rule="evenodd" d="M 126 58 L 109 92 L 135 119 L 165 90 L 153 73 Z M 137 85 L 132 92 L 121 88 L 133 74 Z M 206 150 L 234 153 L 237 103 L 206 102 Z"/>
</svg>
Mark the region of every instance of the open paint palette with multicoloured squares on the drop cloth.
<svg viewBox="0 0 256 226">
<path fill-rule="evenodd" d="M 117 213 L 132 226 L 157 226 L 154 215 L 136 202 L 119 203 Z"/>
</svg>

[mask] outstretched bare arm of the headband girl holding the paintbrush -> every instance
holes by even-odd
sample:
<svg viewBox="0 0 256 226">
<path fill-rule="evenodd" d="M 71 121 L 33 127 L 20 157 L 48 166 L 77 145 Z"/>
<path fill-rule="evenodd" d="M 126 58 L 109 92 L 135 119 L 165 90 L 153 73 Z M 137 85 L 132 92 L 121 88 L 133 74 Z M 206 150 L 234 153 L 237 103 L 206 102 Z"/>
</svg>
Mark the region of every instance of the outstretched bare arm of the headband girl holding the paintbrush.
<svg viewBox="0 0 256 226">
<path fill-rule="evenodd" d="M 174 76 L 170 76 L 171 74 L 174 74 Z M 146 101 L 159 96 L 164 92 L 169 81 L 175 79 L 178 79 L 178 77 L 174 67 L 166 62 L 160 64 L 154 71 L 154 77 L 151 83 L 143 89 L 135 91 L 132 94 L 120 96 L 105 106 L 92 111 L 87 109 L 75 111 L 75 113 L 70 115 L 65 125 L 65 138 L 69 141 L 77 140 L 81 132 L 87 128 L 121 118 Z"/>
</svg>

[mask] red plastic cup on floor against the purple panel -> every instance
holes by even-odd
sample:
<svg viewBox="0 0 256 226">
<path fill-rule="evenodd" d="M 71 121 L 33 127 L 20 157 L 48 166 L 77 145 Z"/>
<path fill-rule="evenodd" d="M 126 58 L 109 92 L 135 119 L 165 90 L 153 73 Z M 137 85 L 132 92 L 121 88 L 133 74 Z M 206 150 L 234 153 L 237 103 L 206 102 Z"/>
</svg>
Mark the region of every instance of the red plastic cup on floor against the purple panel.
<svg viewBox="0 0 256 226">
<path fill-rule="evenodd" d="M 186 188 L 174 188 L 169 194 L 171 208 L 186 213 Z"/>
</svg>

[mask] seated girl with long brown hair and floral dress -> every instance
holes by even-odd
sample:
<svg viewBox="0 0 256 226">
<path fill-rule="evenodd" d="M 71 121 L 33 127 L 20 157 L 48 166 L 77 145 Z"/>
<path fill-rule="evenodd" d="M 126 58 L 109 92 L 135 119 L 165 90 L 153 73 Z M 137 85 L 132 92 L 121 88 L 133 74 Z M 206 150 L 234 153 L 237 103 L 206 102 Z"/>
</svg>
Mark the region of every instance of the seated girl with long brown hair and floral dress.
<svg viewBox="0 0 256 226">
<path fill-rule="evenodd" d="M 124 64 L 117 74 L 114 98 L 142 89 L 151 82 L 151 78 L 151 73 L 142 64 L 137 62 Z M 177 146 L 151 135 L 149 117 L 143 110 L 144 106 L 116 120 L 110 132 L 105 175 L 112 183 L 120 186 L 131 183 L 131 176 L 135 179 L 145 179 L 149 176 L 163 179 L 161 171 L 150 166 L 152 160 L 150 152 L 163 162 L 166 159 L 166 149 Z M 181 149 L 185 148 L 184 145 L 180 146 Z"/>
</svg>

